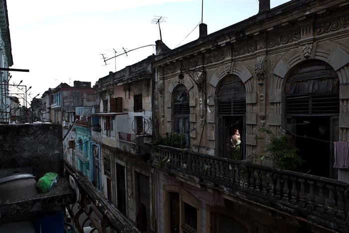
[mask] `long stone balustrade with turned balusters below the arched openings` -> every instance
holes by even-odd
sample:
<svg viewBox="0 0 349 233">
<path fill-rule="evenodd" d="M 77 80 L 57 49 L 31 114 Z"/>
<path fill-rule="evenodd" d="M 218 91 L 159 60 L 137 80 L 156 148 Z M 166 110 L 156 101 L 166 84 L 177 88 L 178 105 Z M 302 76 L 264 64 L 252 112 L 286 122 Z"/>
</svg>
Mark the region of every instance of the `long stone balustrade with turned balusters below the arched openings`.
<svg viewBox="0 0 349 233">
<path fill-rule="evenodd" d="M 337 232 L 349 232 L 349 184 L 158 146 L 153 165 Z"/>
</svg>

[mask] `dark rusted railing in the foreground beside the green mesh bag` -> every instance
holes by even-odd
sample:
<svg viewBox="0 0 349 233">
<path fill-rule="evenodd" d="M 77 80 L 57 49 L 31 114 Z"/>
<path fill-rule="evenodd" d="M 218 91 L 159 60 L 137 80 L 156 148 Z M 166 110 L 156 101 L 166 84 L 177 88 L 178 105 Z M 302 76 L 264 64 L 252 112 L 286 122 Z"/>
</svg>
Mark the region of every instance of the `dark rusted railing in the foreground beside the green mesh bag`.
<svg viewBox="0 0 349 233">
<path fill-rule="evenodd" d="M 140 233 L 137 228 L 111 204 L 80 171 L 67 162 L 65 174 L 74 187 L 77 202 L 67 206 L 69 216 L 79 233 L 89 232 Z"/>
</svg>

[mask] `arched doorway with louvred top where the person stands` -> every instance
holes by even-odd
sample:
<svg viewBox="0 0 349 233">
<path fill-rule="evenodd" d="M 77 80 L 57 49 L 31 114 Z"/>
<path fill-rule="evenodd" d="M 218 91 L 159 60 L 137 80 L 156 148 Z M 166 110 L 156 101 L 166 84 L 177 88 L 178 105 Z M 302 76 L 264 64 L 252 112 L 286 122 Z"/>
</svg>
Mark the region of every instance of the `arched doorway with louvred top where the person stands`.
<svg viewBox="0 0 349 233">
<path fill-rule="evenodd" d="M 218 148 L 219 156 L 240 160 L 245 154 L 245 86 L 236 75 L 224 77 L 217 85 Z M 238 130 L 240 145 L 231 139 Z"/>
</svg>

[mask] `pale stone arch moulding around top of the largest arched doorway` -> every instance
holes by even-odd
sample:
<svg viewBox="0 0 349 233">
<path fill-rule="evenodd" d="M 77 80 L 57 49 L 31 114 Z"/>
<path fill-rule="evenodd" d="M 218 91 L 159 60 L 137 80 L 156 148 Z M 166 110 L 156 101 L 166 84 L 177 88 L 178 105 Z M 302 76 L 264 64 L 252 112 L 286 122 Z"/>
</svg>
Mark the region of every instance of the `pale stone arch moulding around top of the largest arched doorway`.
<svg viewBox="0 0 349 233">
<path fill-rule="evenodd" d="M 337 72 L 349 64 L 349 49 L 335 42 L 323 41 L 314 45 L 307 44 L 299 48 L 291 49 L 281 57 L 276 64 L 273 74 L 284 79 L 288 71 L 298 63 L 306 59 L 318 59 L 329 63 Z M 341 80 L 341 83 L 347 83 L 348 80 Z M 273 83 L 273 82 L 272 82 Z M 274 82 L 276 83 L 276 82 Z M 270 87 L 276 89 L 277 87 Z"/>
</svg>

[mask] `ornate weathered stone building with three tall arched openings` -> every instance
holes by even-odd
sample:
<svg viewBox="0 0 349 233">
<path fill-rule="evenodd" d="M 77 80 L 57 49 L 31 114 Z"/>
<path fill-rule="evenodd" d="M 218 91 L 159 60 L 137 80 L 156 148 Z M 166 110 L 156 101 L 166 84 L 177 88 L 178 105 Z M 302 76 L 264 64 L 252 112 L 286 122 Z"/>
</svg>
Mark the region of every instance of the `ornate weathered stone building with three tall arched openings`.
<svg viewBox="0 0 349 233">
<path fill-rule="evenodd" d="M 333 168 L 333 142 L 349 140 L 348 1 L 259 2 L 257 15 L 209 35 L 201 24 L 174 50 L 157 41 L 154 132 L 184 134 L 189 149 L 153 151 L 159 233 L 348 231 L 333 217 L 347 211 L 345 183 L 320 181 L 349 181 Z M 265 129 L 292 136 L 303 173 L 268 168 Z"/>
</svg>

